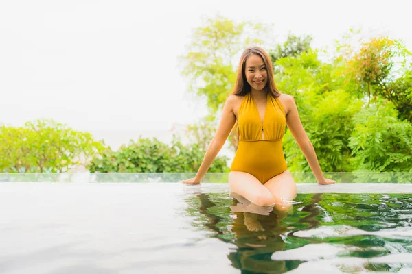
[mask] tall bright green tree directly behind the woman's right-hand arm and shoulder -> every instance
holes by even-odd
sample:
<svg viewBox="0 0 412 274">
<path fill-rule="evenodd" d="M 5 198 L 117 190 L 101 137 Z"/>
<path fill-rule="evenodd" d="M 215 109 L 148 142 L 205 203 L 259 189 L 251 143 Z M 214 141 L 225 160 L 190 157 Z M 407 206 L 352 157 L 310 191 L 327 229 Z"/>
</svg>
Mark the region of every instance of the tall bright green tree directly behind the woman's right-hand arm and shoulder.
<svg viewBox="0 0 412 274">
<path fill-rule="evenodd" d="M 317 51 L 277 60 L 279 90 L 293 95 L 302 125 L 317 151 L 323 171 L 351 171 L 352 116 L 362 103 L 346 92 L 342 60 L 323 63 Z M 284 153 L 291 171 L 310 171 L 303 153 L 287 130 Z"/>
</svg>

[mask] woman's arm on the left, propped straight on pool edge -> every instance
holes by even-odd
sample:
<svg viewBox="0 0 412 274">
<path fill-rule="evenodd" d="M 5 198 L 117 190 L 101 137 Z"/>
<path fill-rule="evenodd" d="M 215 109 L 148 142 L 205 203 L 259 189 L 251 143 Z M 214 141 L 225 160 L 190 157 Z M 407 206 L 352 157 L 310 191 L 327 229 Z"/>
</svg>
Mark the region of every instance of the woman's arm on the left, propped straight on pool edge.
<svg viewBox="0 0 412 274">
<path fill-rule="evenodd" d="M 231 95 L 227 98 L 225 106 L 223 107 L 222 119 L 220 119 L 216 134 L 207 148 L 205 157 L 203 158 L 202 164 L 199 167 L 196 176 L 192 179 L 183 180 L 181 182 L 186 184 L 199 184 L 201 179 L 205 176 L 211 163 L 216 158 L 216 155 L 218 155 L 220 149 L 222 149 L 223 145 L 225 145 L 233 125 L 235 125 L 236 116 L 233 113 L 233 104 L 235 103 L 235 100 L 235 95 Z"/>
</svg>

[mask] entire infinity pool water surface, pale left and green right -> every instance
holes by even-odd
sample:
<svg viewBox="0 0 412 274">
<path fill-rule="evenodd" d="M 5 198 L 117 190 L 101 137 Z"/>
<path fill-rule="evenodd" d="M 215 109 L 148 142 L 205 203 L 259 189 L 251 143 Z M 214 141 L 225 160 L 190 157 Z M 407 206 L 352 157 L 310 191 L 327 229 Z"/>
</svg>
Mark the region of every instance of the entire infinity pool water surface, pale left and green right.
<svg viewBox="0 0 412 274">
<path fill-rule="evenodd" d="M 297 184 L 279 212 L 228 184 L 84 178 L 3 177 L 1 273 L 412 273 L 412 184 Z"/>
</svg>

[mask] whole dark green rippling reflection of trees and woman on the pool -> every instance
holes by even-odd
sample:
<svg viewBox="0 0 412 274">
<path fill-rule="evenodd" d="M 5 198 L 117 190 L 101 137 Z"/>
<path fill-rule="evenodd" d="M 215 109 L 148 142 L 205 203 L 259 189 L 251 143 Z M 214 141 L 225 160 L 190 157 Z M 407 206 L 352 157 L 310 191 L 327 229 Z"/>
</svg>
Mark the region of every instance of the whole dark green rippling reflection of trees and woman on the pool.
<svg viewBox="0 0 412 274">
<path fill-rule="evenodd" d="M 410 195 L 314 194 L 296 201 L 284 212 L 233 194 L 200 192 L 187 199 L 187 211 L 195 227 L 230 244 L 227 257 L 242 273 L 412 266 Z"/>
</svg>

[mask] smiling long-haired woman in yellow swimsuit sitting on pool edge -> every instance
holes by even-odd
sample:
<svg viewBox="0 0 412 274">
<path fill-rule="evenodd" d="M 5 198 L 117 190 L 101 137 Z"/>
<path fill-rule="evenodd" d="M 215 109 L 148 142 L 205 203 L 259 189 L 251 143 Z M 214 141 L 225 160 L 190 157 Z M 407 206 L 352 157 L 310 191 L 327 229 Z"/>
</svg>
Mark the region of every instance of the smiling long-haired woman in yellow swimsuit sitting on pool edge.
<svg viewBox="0 0 412 274">
<path fill-rule="evenodd" d="M 271 59 L 260 47 L 246 49 L 240 58 L 232 95 L 223 108 L 222 119 L 196 173 L 183 180 L 200 184 L 211 162 L 225 144 L 238 121 L 238 149 L 229 173 L 231 190 L 258 206 L 282 205 L 296 197 L 296 184 L 287 170 L 282 137 L 288 125 L 319 184 L 325 179 L 316 153 L 301 125 L 295 100 L 277 90 Z"/>
</svg>

